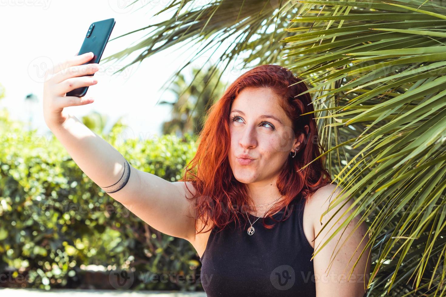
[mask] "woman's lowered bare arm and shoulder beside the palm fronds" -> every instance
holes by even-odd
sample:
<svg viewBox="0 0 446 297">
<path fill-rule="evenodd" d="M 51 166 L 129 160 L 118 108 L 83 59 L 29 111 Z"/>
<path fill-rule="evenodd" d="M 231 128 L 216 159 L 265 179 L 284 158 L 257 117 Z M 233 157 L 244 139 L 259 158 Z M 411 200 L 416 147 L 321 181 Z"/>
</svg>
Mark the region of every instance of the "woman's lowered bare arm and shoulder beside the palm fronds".
<svg viewBox="0 0 446 297">
<path fill-rule="evenodd" d="M 336 296 L 363 296 L 371 258 L 368 227 L 355 213 L 355 200 L 336 184 L 327 184 L 311 196 L 314 273 L 319 280 L 333 280 L 317 281 L 318 295 L 333 296 L 337 292 Z"/>
</svg>

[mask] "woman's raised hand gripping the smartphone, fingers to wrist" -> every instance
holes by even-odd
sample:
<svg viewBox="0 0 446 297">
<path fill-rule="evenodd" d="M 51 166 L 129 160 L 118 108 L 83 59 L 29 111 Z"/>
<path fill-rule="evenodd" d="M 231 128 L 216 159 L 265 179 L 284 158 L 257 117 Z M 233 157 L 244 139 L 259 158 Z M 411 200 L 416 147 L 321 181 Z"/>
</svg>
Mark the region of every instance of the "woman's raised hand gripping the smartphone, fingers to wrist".
<svg viewBox="0 0 446 297">
<path fill-rule="evenodd" d="M 99 70 L 99 64 L 82 65 L 93 58 L 93 53 L 68 58 L 66 61 L 47 69 L 43 85 L 43 117 L 50 129 L 62 125 L 68 118 L 64 107 L 85 105 L 93 102 L 93 98 L 66 96 L 71 90 L 95 85 L 97 80 L 93 74 Z"/>
</svg>

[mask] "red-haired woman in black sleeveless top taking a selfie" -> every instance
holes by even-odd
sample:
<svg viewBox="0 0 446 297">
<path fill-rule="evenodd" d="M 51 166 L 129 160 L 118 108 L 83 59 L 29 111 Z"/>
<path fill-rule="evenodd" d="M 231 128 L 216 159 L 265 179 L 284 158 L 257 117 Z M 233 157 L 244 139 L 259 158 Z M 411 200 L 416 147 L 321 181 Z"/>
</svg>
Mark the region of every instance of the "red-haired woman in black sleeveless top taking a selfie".
<svg viewBox="0 0 446 297">
<path fill-rule="evenodd" d="M 91 57 L 70 57 L 45 74 L 45 123 L 112 198 L 160 232 L 190 241 L 208 296 L 364 295 L 366 226 L 356 228 L 354 219 L 320 248 L 342 225 L 343 213 L 353 212 L 352 201 L 321 219 L 341 189 L 330 183 L 321 159 L 310 163 L 321 147 L 314 115 L 301 116 L 314 109 L 308 93 L 299 95 L 307 90 L 299 78 L 277 65 L 241 75 L 211 107 L 194 159 L 172 183 L 132 167 L 66 113 L 67 106 L 93 102 L 65 96 L 96 83 L 81 76 L 98 70 L 82 65 Z M 310 260 L 315 247 L 320 250 Z"/>
</svg>

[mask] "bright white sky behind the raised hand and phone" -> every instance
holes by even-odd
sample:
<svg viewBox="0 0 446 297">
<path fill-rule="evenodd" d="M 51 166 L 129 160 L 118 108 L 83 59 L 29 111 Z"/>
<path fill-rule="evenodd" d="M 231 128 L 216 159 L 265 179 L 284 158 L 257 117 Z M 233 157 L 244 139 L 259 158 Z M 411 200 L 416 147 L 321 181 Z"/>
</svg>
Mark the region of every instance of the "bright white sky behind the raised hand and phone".
<svg viewBox="0 0 446 297">
<path fill-rule="evenodd" d="M 44 65 L 63 61 L 78 52 L 90 24 L 94 21 L 115 18 L 116 25 L 110 39 L 124 33 L 155 24 L 173 16 L 167 14 L 153 18 L 153 14 L 171 0 L 140 0 L 129 8 L 133 0 L 0 0 L 0 83 L 6 89 L 6 97 L 0 101 L 0 108 L 6 107 L 12 118 L 26 121 L 29 107 L 25 96 L 37 95 L 38 104 L 32 107 L 33 126 L 39 134 L 48 135 L 42 115 L 42 92 Z M 144 7 L 143 7 L 144 6 Z M 141 8 L 141 9 L 139 9 Z M 152 30 L 152 29 L 151 29 Z M 135 45 L 149 30 L 133 33 L 129 36 L 109 41 L 103 58 L 122 49 Z M 71 106 L 70 113 L 77 118 L 97 111 L 107 114 L 111 120 L 124 116 L 128 125 L 128 136 L 151 138 L 161 134 L 161 122 L 170 119 L 170 107 L 157 105 L 158 99 L 172 101 L 174 96 L 169 91 L 160 89 L 165 81 L 194 55 L 194 50 L 185 52 L 177 47 L 145 59 L 142 64 L 132 65 L 124 73 L 111 75 L 121 66 L 128 64 L 140 52 L 125 60 L 113 64 L 99 63 L 95 73 L 98 84 L 90 86 L 87 97 L 95 102 L 85 106 Z M 219 57 L 215 53 L 215 57 Z M 211 61 L 215 61 L 212 59 Z M 198 58 L 195 66 L 204 63 L 205 58 Z M 223 81 L 234 81 L 242 73 L 228 67 Z M 190 77 L 190 69 L 183 69 Z M 27 110 L 28 108 L 28 110 Z M 132 136 L 133 135 L 133 136 Z"/>
</svg>

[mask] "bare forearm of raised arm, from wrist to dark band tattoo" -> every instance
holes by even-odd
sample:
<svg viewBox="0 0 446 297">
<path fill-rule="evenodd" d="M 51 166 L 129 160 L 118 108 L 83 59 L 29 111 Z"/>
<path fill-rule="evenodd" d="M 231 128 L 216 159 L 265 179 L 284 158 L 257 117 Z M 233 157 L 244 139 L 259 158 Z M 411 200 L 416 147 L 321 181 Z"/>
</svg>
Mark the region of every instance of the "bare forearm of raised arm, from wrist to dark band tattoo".
<svg viewBox="0 0 446 297">
<path fill-rule="evenodd" d="M 70 115 L 60 126 L 50 130 L 68 151 L 78 167 L 99 187 L 120 180 L 125 159 L 111 144 Z"/>
</svg>

